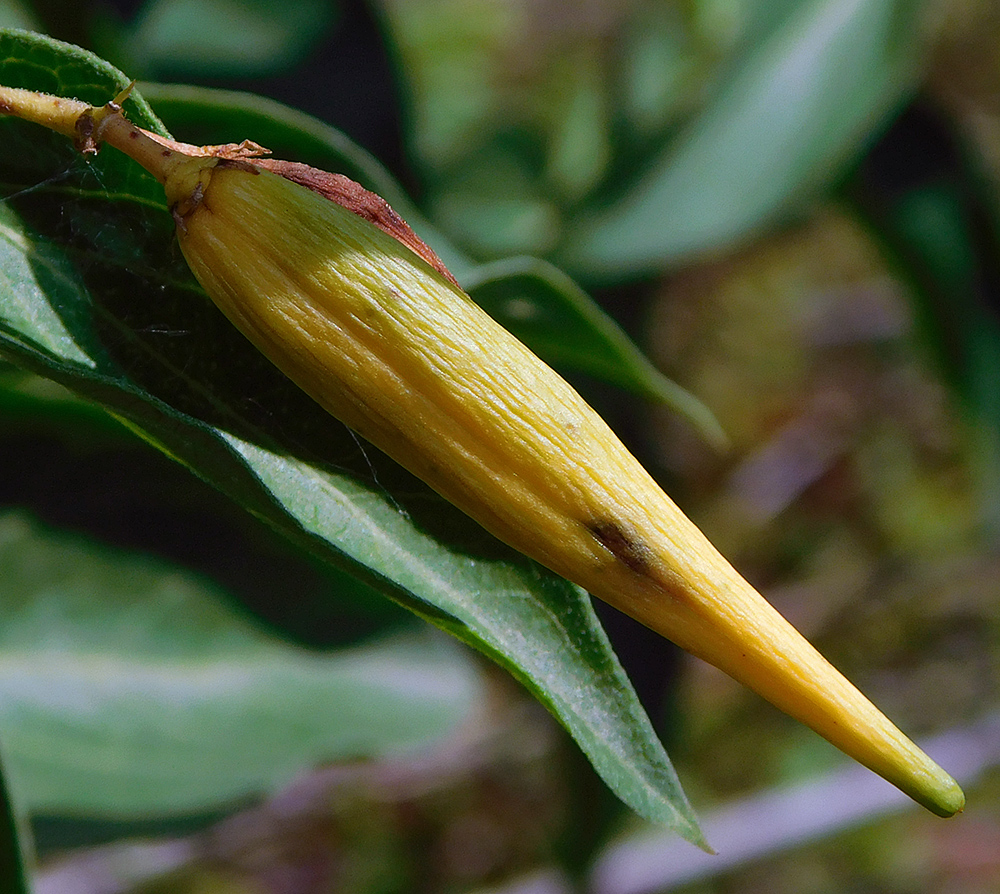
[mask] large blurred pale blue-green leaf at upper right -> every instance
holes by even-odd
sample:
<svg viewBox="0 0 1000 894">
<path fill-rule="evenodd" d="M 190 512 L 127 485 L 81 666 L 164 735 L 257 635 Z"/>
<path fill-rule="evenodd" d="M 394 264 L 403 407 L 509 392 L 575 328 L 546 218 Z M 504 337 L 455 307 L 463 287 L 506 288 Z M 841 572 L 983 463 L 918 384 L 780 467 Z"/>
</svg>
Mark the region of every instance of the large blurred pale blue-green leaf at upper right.
<svg viewBox="0 0 1000 894">
<path fill-rule="evenodd" d="M 921 5 L 805 0 L 556 261 L 621 278 L 718 249 L 827 187 L 913 89 Z"/>
</svg>

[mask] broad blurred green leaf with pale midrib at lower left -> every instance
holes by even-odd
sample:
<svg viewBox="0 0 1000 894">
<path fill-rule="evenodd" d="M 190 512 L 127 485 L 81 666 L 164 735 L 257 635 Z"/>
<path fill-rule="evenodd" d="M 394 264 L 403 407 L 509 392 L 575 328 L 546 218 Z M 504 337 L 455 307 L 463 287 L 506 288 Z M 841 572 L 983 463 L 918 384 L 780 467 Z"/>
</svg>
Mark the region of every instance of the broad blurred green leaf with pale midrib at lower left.
<svg viewBox="0 0 1000 894">
<path fill-rule="evenodd" d="M 436 638 L 296 649 L 206 582 L 17 514 L 0 516 L 0 569 L 0 728 L 33 812 L 216 808 L 439 740 L 482 695 Z"/>
</svg>

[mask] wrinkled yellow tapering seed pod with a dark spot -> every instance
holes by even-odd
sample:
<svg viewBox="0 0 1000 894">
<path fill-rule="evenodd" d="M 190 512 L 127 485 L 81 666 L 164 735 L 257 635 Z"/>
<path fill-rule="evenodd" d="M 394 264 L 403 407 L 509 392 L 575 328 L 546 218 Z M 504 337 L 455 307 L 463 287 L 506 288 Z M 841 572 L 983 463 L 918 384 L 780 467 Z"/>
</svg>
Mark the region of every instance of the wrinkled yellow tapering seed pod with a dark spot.
<svg viewBox="0 0 1000 894">
<path fill-rule="evenodd" d="M 84 150 L 109 142 L 163 183 L 205 291 L 330 413 L 501 540 L 721 668 L 930 810 L 962 809 L 957 783 L 732 568 L 600 416 L 381 199 L 336 175 L 254 158 L 252 145 L 156 138 L 115 104 L 78 114 Z"/>
</svg>

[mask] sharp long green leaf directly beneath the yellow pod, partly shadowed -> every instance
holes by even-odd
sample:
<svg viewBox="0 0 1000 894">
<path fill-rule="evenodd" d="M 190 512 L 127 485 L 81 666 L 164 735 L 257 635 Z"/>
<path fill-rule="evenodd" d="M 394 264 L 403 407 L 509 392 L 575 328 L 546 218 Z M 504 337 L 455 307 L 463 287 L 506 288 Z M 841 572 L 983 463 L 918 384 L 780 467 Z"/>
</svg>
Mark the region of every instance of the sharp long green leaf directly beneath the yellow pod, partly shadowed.
<svg viewBox="0 0 1000 894">
<path fill-rule="evenodd" d="M 26 55 L 30 68 L 18 64 Z M 64 56 L 79 51 L 0 35 L 0 82 L 79 92 Z M 97 101 L 124 80 L 99 63 L 77 77 L 98 84 Z M 0 171 L 16 184 L 0 270 L 16 272 L 17 306 L 34 308 L 15 316 L 0 305 L 0 351 L 102 403 L 248 511 L 490 655 L 626 803 L 703 843 L 586 595 L 359 443 L 254 351 L 191 278 L 151 178 L 124 172 L 108 150 L 82 161 L 12 120 L 0 121 Z"/>
</svg>

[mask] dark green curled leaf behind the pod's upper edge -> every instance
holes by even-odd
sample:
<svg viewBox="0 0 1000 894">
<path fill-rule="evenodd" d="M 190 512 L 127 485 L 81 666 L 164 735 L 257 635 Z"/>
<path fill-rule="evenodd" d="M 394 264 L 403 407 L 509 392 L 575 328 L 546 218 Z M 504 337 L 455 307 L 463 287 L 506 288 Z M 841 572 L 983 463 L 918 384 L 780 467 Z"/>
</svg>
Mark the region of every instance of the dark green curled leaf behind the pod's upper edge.
<svg viewBox="0 0 1000 894">
<path fill-rule="evenodd" d="M 385 168 L 339 131 L 259 96 L 205 87 L 141 87 L 170 129 L 187 142 L 238 143 L 252 135 L 276 158 L 302 161 L 357 180 L 385 198 L 472 297 L 548 363 L 663 403 L 713 446 L 725 444 L 711 411 L 656 369 L 568 276 L 532 258 L 475 266 L 421 216 Z"/>
</svg>

